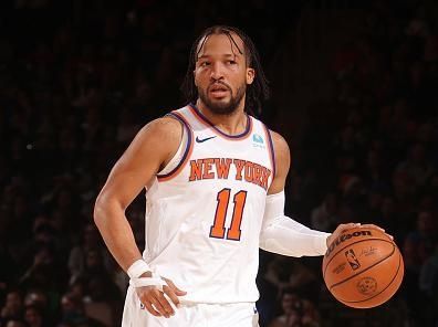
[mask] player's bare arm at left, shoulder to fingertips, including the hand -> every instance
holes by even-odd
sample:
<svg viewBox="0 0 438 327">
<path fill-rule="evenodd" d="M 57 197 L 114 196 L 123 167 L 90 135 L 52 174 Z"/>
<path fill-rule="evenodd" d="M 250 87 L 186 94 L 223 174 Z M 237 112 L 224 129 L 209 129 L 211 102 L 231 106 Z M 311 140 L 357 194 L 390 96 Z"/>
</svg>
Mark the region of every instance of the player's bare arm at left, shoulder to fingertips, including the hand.
<svg viewBox="0 0 438 327">
<path fill-rule="evenodd" d="M 150 278 L 152 272 L 148 272 L 147 264 L 140 261 L 142 254 L 125 210 L 143 188 L 150 186 L 156 173 L 175 156 L 181 137 L 182 125 L 174 118 L 164 117 L 146 125 L 114 165 L 94 207 L 94 221 L 117 263 L 125 272 L 135 266 L 134 262 L 139 263 L 139 276 L 136 273 L 133 278 L 148 279 L 147 284 L 142 285 L 149 286 L 134 285 L 139 300 L 154 316 L 167 318 L 175 312 L 164 294 L 178 306 L 178 296 L 185 295 L 186 292 L 167 278 L 160 278 L 166 282 L 163 292 L 154 284 L 156 282 Z"/>
</svg>

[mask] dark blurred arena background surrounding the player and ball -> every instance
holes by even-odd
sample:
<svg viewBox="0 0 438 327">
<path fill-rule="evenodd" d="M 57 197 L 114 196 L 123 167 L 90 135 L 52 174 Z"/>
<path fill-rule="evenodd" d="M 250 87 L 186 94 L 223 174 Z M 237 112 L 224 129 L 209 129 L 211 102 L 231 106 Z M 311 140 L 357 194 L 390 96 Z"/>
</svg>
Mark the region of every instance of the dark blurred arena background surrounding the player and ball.
<svg viewBox="0 0 438 327">
<path fill-rule="evenodd" d="M 357 310 L 327 293 L 321 257 L 261 252 L 261 326 L 438 326 L 438 4 L 279 2 L 2 1 L 0 326 L 119 325 L 127 281 L 94 200 L 136 131 L 185 105 L 190 45 L 215 23 L 261 54 L 261 118 L 292 151 L 286 212 L 377 223 L 406 265 L 388 303 Z M 140 249 L 143 214 L 140 194 Z"/>
</svg>

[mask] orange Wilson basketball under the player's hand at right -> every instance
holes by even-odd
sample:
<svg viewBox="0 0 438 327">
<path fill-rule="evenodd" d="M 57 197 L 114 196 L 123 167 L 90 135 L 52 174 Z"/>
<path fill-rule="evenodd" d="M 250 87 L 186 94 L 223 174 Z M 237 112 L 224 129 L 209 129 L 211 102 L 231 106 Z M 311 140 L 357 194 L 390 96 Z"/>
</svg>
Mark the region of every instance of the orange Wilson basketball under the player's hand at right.
<svg viewBox="0 0 438 327">
<path fill-rule="evenodd" d="M 322 271 L 332 295 L 354 308 L 372 308 L 387 302 L 404 276 L 397 245 L 377 229 L 351 229 L 330 245 Z"/>
</svg>

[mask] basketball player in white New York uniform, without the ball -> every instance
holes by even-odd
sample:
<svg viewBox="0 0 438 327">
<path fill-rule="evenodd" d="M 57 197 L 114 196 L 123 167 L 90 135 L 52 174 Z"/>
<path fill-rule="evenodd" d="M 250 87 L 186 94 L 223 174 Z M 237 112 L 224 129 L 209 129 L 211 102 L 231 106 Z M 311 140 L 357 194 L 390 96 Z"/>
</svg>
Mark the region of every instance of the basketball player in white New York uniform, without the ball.
<svg viewBox="0 0 438 327">
<path fill-rule="evenodd" d="M 147 124 L 114 166 L 94 219 L 131 277 L 122 326 L 258 326 L 259 247 L 322 255 L 333 234 L 284 217 L 285 140 L 249 113 L 268 95 L 252 41 L 212 27 L 196 40 L 185 107 Z M 125 210 L 146 188 L 146 244 Z"/>
</svg>

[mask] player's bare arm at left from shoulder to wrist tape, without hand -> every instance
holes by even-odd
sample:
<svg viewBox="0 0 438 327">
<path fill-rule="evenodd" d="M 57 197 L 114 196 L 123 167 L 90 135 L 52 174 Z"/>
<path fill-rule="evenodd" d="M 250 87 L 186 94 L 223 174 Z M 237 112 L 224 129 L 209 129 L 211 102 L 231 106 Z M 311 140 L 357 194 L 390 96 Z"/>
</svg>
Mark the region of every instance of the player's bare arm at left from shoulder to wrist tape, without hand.
<svg viewBox="0 0 438 327">
<path fill-rule="evenodd" d="M 114 165 L 96 199 L 94 221 L 125 272 L 142 259 L 125 210 L 177 151 L 181 130 L 181 124 L 168 117 L 143 127 Z"/>
</svg>

